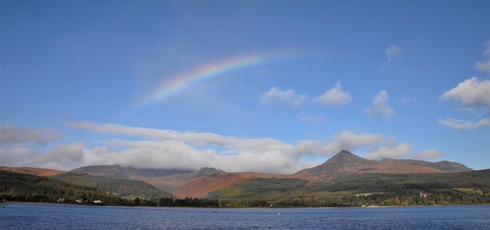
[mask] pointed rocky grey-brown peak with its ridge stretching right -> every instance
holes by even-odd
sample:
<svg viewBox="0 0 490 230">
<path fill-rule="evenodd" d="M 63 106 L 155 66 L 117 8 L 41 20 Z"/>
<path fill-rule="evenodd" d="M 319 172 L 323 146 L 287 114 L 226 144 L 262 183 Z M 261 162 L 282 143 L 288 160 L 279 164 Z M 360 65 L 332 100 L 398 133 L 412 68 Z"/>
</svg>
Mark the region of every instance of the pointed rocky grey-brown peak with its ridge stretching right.
<svg viewBox="0 0 490 230">
<path fill-rule="evenodd" d="M 324 163 L 300 170 L 297 176 L 335 177 L 360 173 L 436 173 L 472 171 L 463 164 L 449 161 L 429 162 L 407 159 L 368 160 L 342 150 Z"/>
</svg>

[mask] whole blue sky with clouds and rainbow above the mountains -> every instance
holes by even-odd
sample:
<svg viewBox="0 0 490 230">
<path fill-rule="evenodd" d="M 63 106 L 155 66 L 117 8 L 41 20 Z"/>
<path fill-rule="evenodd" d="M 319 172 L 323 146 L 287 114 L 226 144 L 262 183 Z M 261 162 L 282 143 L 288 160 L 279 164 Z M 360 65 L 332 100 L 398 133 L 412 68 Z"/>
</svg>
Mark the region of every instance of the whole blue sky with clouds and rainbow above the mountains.
<svg viewBox="0 0 490 230">
<path fill-rule="evenodd" d="M 2 0 L 0 165 L 490 168 L 490 2 Z"/>
</svg>

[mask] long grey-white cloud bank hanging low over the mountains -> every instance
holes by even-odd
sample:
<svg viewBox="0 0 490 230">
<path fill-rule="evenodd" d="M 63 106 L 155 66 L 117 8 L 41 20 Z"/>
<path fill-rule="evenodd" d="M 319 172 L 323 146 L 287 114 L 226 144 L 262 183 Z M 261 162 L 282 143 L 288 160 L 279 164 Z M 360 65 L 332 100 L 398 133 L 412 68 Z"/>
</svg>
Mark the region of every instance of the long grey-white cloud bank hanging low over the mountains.
<svg viewBox="0 0 490 230">
<path fill-rule="evenodd" d="M 395 153 L 409 145 L 399 147 L 396 138 L 382 134 L 344 131 L 331 137 L 331 141 L 299 140 L 293 144 L 272 138 L 223 137 L 212 133 L 179 132 L 173 130 L 147 129 L 118 124 L 94 124 L 68 122 L 79 129 L 111 134 L 117 138 L 95 142 L 99 146 L 87 148 L 82 141 L 58 144 L 43 151 L 30 142 L 1 145 L 1 165 L 31 166 L 71 170 L 86 165 L 119 163 L 141 168 L 187 168 L 215 167 L 228 172 L 269 172 L 289 174 L 313 162 L 302 162 L 308 156 L 327 157 L 341 150 L 365 151 L 382 156 L 398 157 Z M 138 137 L 138 140 L 134 140 Z M 92 143 L 91 145 L 94 145 Z M 385 153 L 383 153 L 385 151 Z M 371 156 L 370 155 L 370 156 Z M 318 165 L 321 162 L 316 162 Z"/>
</svg>

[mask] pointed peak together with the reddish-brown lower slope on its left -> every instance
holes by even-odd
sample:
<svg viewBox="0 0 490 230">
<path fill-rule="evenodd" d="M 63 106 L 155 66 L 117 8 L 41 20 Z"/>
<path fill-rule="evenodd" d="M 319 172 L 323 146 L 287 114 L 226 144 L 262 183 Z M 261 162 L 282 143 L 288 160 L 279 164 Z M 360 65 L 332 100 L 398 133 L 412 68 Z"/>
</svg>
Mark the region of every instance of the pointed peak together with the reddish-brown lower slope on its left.
<svg viewBox="0 0 490 230">
<path fill-rule="evenodd" d="M 196 178 L 183 184 L 173 192 L 179 198 L 189 197 L 210 197 L 209 194 L 224 193 L 240 194 L 243 188 L 236 187 L 244 181 L 255 180 L 258 178 L 286 180 L 300 179 L 308 181 L 307 185 L 319 184 L 333 180 L 342 175 L 363 174 L 363 173 L 447 173 L 472 171 L 463 164 L 449 161 L 429 162 L 417 160 L 396 160 L 384 159 L 381 161 L 368 160 L 343 150 L 328 161 L 313 167 L 300 170 L 291 175 L 277 175 L 266 173 L 217 173 L 209 174 L 204 177 Z M 255 182 L 254 182 L 255 183 Z M 219 190 L 219 191 L 218 191 Z M 237 192 L 241 191 L 241 192 Z"/>
</svg>

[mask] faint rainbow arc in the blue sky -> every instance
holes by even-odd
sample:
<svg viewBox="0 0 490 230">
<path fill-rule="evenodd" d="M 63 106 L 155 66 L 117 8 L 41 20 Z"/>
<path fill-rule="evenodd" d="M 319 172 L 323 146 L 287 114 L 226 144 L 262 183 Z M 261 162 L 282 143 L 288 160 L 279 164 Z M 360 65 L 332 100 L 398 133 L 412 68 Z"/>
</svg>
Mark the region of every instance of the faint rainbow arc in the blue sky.
<svg viewBox="0 0 490 230">
<path fill-rule="evenodd" d="M 249 55 L 235 59 L 228 59 L 222 62 L 210 64 L 196 69 L 193 72 L 182 74 L 160 83 L 157 89 L 149 96 L 140 100 L 131 109 L 131 114 L 137 113 L 155 101 L 163 100 L 171 95 L 182 92 L 197 83 L 207 79 L 222 76 L 226 73 L 262 66 L 281 59 L 287 59 L 290 55 Z"/>
</svg>

